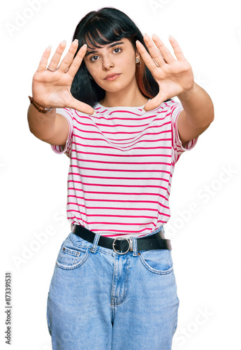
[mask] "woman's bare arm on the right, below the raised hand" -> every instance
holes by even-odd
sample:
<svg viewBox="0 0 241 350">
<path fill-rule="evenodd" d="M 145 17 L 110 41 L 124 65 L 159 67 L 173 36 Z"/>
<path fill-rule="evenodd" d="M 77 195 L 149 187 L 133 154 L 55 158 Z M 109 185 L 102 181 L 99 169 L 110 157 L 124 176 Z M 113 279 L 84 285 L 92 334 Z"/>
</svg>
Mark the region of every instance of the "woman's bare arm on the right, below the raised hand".
<svg viewBox="0 0 241 350">
<path fill-rule="evenodd" d="M 214 120 L 214 106 L 210 96 L 194 83 L 193 88 L 177 97 L 180 99 L 184 111 L 177 119 L 177 129 L 182 144 L 196 139 Z"/>
</svg>

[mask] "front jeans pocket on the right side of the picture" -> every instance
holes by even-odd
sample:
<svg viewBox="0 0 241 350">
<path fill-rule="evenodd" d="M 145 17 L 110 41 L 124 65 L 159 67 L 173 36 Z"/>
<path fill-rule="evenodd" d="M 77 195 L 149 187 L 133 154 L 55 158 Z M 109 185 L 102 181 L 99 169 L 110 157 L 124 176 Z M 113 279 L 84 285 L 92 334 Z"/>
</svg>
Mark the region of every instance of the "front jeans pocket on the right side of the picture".
<svg viewBox="0 0 241 350">
<path fill-rule="evenodd" d="M 173 258 L 169 249 L 153 249 L 140 251 L 140 260 L 154 274 L 170 274 L 173 272 Z"/>
</svg>

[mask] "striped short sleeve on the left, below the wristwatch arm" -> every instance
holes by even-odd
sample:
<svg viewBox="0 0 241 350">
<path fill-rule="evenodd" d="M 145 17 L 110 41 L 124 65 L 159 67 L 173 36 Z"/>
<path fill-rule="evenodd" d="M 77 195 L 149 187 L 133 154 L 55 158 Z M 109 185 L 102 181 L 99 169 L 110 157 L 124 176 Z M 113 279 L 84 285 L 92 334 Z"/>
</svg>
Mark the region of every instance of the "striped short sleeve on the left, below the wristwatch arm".
<svg viewBox="0 0 241 350">
<path fill-rule="evenodd" d="M 56 113 L 61 114 L 68 120 L 69 132 L 68 139 L 64 148 L 62 146 L 51 145 L 52 151 L 58 154 L 66 153 L 68 157 L 71 156 L 72 138 L 73 138 L 73 110 L 72 109 L 56 109 Z"/>
</svg>

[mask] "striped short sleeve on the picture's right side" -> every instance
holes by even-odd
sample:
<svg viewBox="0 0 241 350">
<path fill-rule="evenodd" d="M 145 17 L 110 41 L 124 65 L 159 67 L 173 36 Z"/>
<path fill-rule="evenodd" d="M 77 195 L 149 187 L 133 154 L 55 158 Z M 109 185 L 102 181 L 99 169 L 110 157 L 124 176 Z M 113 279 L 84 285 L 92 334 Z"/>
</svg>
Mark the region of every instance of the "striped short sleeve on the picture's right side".
<svg viewBox="0 0 241 350">
<path fill-rule="evenodd" d="M 173 144 L 173 151 L 174 151 L 174 160 L 177 162 L 177 160 L 180 158 L 180 155 L 184 153 L 185 151 L 190 151 L 191 148 L 193 148 L 198 138 L 188 141 L 184 146 L 182 145 L 182 142 L 180 140 L 179 132 L 177 130 L 177 119 L 180 116 L 180 113 L 183 111 L 183 107 L 181 102 L 173 102 L 170 106 L 170 118 L 171 118 L 171 125 L 172 125 L 172 144 Z"/>
</svg>

